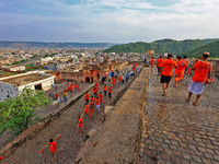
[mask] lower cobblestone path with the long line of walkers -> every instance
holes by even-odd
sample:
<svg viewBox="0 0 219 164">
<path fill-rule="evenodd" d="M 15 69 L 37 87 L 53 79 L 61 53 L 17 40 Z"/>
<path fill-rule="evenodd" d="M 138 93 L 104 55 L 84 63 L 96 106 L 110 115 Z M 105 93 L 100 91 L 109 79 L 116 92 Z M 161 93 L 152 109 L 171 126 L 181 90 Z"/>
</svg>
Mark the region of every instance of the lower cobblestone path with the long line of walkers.
<svg viewBox="0 0 219 164">
<path fill-rule="evenodd" d="M 126 67 L 125 70 L 130 70 L 131 67 Z M 108 83 L 108 82 L 107 82 Z M 84 97 L 80 98 L 73 104 L 68 110 L 58 116 L 51 121 L 49 126 L 39 131 L 32 140 L 26 141 L 20 148 L 16 149 L 14 154 L 3 160 L 2 164 L 44 164 L 51 163 L 49 148 L 45 149 L 44 153 L 39 155 L 39 151 L 48 142 L 50 138 L 61 134 L 61 138 L 57 140 L 58 154 L 55 154 L 54 164 L 69 164 L 73 163 L 79 151 L 83 147 L 85 133 L 91 129 L 97 128 L 103 120 L 104 106 L 111 104 L 116 98 L 116 93 L 126 87 L 130 81 L 124 85 L 118 85 L 113 90 L 113 98 L 110 101 L 108 97 L 103 96 L 104 103 L 101 105 L 101 112 L 99 113 L 94 108 L 93 118 L 85 118 L 83 124 L 83 134 L 77 133 L 77 117 L 83 113 Z M 101 85 L 101 89 L 103 86 Z"/>
</svg>

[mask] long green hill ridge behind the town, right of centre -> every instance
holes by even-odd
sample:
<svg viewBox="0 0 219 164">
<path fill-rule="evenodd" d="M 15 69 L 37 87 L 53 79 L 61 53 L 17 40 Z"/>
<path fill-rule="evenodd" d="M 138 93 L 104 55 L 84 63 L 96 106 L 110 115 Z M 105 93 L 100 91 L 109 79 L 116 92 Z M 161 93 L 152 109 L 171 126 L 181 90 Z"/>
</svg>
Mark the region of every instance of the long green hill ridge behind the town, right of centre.
<svg viewBox="0 0 219 164">
<path fill-rule="evenodd" d="M 145 54 L 149 49 L 153 49 L 155 54 L 173 52 L 185 54 L 188 50 L 206 45 L 206 43 L 215 42 L 216 39 L 161 39 L 153 43 L 129 43 L 123 45 L 115 45 L 105 50 L 105 52 L 142 52 Z"/>
</svg>

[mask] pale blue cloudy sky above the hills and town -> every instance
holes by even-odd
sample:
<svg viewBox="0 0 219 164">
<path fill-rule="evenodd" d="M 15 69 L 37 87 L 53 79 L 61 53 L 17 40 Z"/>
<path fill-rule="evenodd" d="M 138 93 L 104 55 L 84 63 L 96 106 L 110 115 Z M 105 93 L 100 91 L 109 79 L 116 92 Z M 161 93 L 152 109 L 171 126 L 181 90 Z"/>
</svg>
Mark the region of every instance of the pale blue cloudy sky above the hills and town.
<svg viewBox="0 0 219 164">
<path fill-rule="evenodd" d="M 1 0 L 0 40 L 219 38 L 219 0 Z"/>
</svg>

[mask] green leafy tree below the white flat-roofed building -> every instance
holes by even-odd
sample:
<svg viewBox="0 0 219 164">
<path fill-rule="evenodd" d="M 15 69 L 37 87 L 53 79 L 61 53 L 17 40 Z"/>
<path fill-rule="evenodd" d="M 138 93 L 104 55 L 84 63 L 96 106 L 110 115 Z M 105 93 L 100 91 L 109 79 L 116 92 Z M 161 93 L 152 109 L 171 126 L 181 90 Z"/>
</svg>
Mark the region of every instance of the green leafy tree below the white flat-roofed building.
<svg viewBox="0 0 219 164">
<path fill-rule="evenodd" d="M 14 134 L 21 133 L 39 118 L 36 118 L 36 107 L 50 104 L 42 91 L 25 89 L 20 96 L 0 103 L 0 136 L 5 130 Z"/>
</svg>

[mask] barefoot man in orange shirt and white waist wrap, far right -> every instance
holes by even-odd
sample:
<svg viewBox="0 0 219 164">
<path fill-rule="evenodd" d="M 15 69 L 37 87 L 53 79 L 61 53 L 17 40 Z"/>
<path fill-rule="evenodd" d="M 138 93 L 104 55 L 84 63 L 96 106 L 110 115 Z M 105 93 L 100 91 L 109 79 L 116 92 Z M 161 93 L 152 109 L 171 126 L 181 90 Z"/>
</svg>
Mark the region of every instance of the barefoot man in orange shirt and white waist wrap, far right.
<svg viewBox="0 0 219 164">
<path fill-rule="evenodd" d="M 205 82 L 210 79 L 210 73 L 212 72 L 212 63 L 207 61 L 207 58 L 209 56 L 209 52 L 204 52 L 201 56 L 201 60 L 197 61 L 193 66 L 193 70 L 195 70 L 195 73 L 193 75 L 192 83 L 188 86 L 189 92 L 186 101 L 189 102 L 192 94 L 196 94 L 196 99 L 193 103 L 195 106 L 197 105 L 198 99 L 200 98 L 200 95 L 205 89 Z"/>
</svg>

